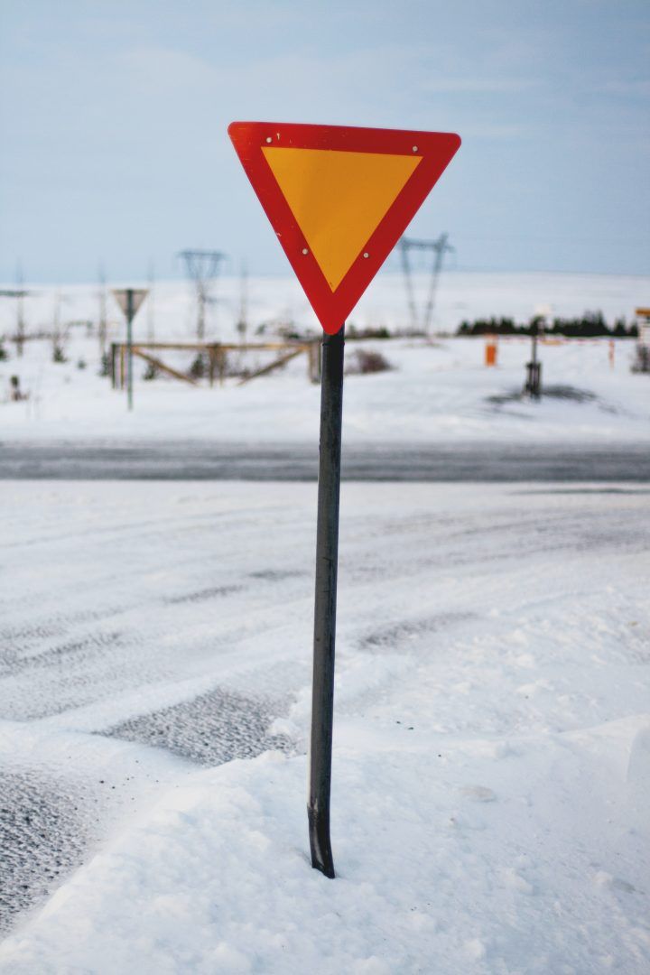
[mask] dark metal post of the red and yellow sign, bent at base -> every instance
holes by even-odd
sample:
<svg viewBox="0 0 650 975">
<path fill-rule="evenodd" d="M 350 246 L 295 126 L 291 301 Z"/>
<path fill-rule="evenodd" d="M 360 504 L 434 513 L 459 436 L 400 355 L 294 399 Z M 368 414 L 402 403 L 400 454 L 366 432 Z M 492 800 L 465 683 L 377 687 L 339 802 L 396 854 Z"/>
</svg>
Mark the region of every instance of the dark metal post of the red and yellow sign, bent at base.
<svg viewBox="0 0 650 975">
<path fill-rule="evenodd" d="M 334 708 L 334 643 L 338 571 L 338 512 L 341 487 L 343 418 L 343 348 L 345 326 L 323 338 L 321 441 L 318 524 L 316 528 L 316 601 L 314 607 L 314 678 L 309 753 L 309 844 L 312 867 L 334 877 L 329 839 L 331 741 Z"/>
</svg>

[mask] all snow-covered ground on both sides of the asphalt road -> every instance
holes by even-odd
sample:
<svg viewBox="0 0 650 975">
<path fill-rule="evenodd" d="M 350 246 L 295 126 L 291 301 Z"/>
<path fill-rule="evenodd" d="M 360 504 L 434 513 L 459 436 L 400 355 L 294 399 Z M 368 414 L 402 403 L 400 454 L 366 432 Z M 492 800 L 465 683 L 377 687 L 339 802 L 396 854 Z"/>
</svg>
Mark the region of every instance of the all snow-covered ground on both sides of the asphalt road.
<svg viewBox="0 0 650 975">
<path fill-rule="evenodd" d="M 649 289 L 449 273 L 436 324 L 540 304 L 630 321 Z M 213 389 L 140 363 L 128 413 L 83 324 L 96 289 L 38 291 L 28 332 L 57 304 L 81 324 L 65 363 L 6 337 L 0 465 L 61 442 L 316 449 L 303 358 Z M 239 282 L 218 296 L 209 336 L 233 339 Z M 0 335 L 15 313 L 0 301 Z M 160 284 L 135 335 L 191 339 L 193 320 Z M 289 279 L 249 282 L 249 320 L 249 338 L 317 334 Z M 406 326 L 401 278 L 353 321 Z M 393 368 L 346 377 L 362 453 L 650 447 L 630 340 L 613 360 L 606 340 L 543 344 L 540 403 L 520 396 L 527 339 L 496 369 L 482 339 L 363 348 Z M 305 809 L 315 484 L 0 481 L 0 971 L 645 975 L 649 500 L 641 482 L 344 484 L 330 881 Z"/>
</svg>

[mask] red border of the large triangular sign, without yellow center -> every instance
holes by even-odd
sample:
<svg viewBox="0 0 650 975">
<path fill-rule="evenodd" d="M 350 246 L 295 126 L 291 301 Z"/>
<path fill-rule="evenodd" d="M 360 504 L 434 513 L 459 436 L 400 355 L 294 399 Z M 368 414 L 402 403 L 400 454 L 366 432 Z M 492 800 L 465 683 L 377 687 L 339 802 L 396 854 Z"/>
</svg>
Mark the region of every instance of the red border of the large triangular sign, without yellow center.
<svg viewBox="0 0 650 975">
<path fill-rule="evenodd" d="M 228 126 L 228 135 L 289 264 L 329 334 L 339 331 L 461 144 L 455 133 L 289 122 L 232 122 Z M 334 292 L 264 157 L 262 149 L 271 146 L 422 157 Z M 363 253 L 368 256 L 363 257 Z"/>
</svg>

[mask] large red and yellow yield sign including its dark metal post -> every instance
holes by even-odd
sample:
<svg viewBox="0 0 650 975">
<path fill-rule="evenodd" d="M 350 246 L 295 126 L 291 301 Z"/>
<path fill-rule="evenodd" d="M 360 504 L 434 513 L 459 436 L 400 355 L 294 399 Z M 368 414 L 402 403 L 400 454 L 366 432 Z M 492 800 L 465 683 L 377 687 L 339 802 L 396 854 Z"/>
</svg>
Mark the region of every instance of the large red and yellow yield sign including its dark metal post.
<svg viewBox="0 0 650 975">
<path fill-rule="evenodd" d="M 231 122 L 228 135 L 325 330 L 307 812 L 312 866 L 333 878 L 329 798 L 344 323 L 457 152 L 460 137 L 288 122 Z M 440 254 L 442 249 L 440 243 Z"/>
</svg>

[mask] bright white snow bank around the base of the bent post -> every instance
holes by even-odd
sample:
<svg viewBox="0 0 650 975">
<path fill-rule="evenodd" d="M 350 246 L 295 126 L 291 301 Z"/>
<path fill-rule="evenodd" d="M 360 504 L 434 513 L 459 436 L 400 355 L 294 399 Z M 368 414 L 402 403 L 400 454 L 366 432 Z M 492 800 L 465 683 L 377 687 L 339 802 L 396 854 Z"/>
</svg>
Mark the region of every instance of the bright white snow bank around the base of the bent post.
<svg viewBox="0 0 650 975">
<path fill-rule="evenodd" d="M 627 773 L 650 716 L 545 740 L 394 725 L 363 750 L 353 730 L 334 762 L 335 881 L 306 858 L 305 760 L 232 762 L 97 855 L 2 969 L 647 970 L 650 763 Z"/>
</svg>

